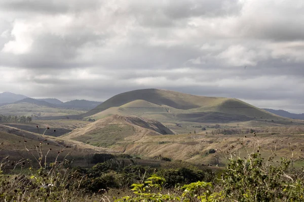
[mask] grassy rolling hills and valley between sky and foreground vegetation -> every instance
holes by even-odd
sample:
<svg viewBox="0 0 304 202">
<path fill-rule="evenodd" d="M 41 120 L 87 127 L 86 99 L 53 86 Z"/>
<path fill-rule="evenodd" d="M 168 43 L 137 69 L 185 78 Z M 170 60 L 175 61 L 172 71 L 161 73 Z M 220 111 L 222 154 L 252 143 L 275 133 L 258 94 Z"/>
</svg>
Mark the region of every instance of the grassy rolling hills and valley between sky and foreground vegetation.
<svg viewBox="0 0 304 202">
<path fill-rule="evenodd" d="M 93 153 L 123 153 L 142 159 L 161 155 L 204 165 L 217 162 L 220 166 L 226 164 L 225 159 L 209 155 L 209 150 L 225 151 L 233 146 L 232 150 L 243 153 L 244 146 L 253 141 L 244 136 L 252 136 L 252 131 L 258 134 L 265 154 L 269 154 L 268 143 L 272 141 L 279 145 L 279 157 L 288 155 L 285 141 L 304 149 L 300 143 L 304 134 L 302 120 L 280 117 L 235 98 L 142 89 L 113 96 L 89 111 L 56 107 L 62 103 L 58 99 L 25 98 L 0 107 L 0 114 L 33 118 L 30 123 L 0 123 L 15 128 L 3 129 L 4 134 L 20 137 L 16 132 L 20 130 L 36 138 L 44 134 L 57 144 L 65 142 Z M 7 141 L 4 136 L 2 139 Z M 79 158 L 81 152 L 73 155 Z M 302 164 L 300 154 L 295 159 Z"/>
</svg>

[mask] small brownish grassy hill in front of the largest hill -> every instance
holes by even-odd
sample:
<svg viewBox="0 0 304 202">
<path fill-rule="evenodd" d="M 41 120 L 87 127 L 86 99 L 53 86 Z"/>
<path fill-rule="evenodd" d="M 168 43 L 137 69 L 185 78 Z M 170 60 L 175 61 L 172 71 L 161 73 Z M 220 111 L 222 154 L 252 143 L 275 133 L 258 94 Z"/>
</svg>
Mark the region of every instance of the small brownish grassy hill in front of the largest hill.
<svg viewBox="0 0 304 202">
<path fill-rule="evenodd" d="M 62 138 L 107 147 L 120 141 L 133 141 L 145 136 L 165 134 L 175 134 L 175 132 L 155 120 L 112 115 L 77 128 Z"/>
</svg>

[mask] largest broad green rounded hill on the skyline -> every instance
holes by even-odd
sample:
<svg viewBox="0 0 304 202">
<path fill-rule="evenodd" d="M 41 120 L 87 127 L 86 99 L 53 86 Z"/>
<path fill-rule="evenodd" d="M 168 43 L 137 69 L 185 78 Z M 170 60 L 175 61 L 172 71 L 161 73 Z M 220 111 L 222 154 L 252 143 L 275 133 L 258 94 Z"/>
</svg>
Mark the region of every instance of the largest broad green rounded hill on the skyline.
<svg viewBox="0 0 304 202">
<path fill-rule="evenodd" d="M 207 97 L 160 89 L 142 89 L 115 95 L 82 117 L 139 116 L 158 121 L 229 122 L 281 119 L 236 98 Z"/>
</svg>

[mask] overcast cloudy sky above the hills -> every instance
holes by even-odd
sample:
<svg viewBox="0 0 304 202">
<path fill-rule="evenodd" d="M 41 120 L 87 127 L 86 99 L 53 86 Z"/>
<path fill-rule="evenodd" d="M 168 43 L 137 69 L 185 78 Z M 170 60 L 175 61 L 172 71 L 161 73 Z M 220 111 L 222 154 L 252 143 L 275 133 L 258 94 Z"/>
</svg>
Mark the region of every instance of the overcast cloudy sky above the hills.
<svg viewBox="0 0 304 202">
<path fill-rule="evenodd" d="M 304 113 L 304 1 L 0 1 L 0 92 L 142 88 Z"/>
</svg>

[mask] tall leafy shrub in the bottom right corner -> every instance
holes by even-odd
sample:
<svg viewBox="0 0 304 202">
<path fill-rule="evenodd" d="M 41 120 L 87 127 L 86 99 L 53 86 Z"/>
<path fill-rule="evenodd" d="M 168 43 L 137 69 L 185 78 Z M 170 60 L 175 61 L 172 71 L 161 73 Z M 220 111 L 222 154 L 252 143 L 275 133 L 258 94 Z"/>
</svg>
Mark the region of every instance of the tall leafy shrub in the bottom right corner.
<svg viewBox="0 0 304 202">
<path fill-rule="evenodd" d="M 264 162 L 259 152 L 246 159 L 230 159 L 222 177 L 224 195 L 236 201 L 301 201 L 303 175 L 290 170 L 290 160 L 268 165 L 272 161 L 270 157 Z"/>
</svg>

